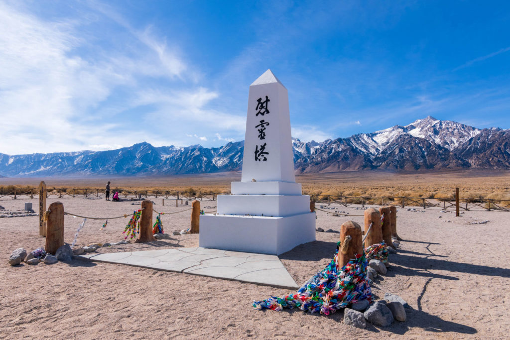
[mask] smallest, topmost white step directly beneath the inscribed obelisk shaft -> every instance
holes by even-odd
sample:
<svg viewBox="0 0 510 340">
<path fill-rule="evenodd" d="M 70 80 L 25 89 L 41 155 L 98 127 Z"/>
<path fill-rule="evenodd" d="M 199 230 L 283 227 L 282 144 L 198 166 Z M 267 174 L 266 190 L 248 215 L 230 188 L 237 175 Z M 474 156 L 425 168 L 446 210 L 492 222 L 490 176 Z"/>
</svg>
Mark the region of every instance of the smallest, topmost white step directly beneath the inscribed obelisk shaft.
<svg viewBox="0 0 510 340">
<path fill-rule="evenodd" d="M 233 195 L 301 195 L 301 184 L 290 182 L 232 182 Z"/>
</svg>

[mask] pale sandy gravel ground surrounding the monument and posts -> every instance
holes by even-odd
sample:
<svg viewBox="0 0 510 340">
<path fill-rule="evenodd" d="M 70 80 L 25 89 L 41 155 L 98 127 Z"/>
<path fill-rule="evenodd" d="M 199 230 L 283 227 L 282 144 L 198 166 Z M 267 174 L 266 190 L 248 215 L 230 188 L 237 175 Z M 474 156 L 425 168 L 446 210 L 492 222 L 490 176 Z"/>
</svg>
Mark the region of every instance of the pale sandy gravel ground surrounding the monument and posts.
<svg viewBox="0 0 510 340">
<path fill-rule="evenodd" d="M 59 199 L 50 198 L 49 203 Z M 63 198 L 66 211 L 108 217 L 130 213 L 131 202 Z M 155 209 L 181 211 L 189 206 L 154 200 Z M 22 209 L 36 199 L 2 199 L 7 209 Z M 172 205 L 173 203 L 173 205 Z M 202 208 L 215 210 L 216 202 Z M 339 211 L 362 215 L 355 207 Z M 70 264 L 10 267 L 13 249 L 44 245 L 38 217 L 0 219 L 0 337 L 2 338 L 507 338 L 510 332 L 510 213 L 466 212 L 455 218 L 439 209 L 399 209 L 398 233 L 403 241 L 390 255 L 388 274 L 376 279 L 373 293 L 397 293 L 410 305 L 407 321 L 391 327 L 361 330 L 332 316 L 299 310 L 258 311 L 253 299 L 281 296 L 285 289 L 210 277 L 75 260 Z M 317 226 L 340 225 L 363 217 L 317 213 Z M 443 218 L 439 219 L 438 217 Z M 472 225 L 469 221 L 489 220 Z M 450 223 L 445 221 L 451 221 Z M 72 242 L 81 219 L 65 217 L 65 242 Z M 187 228 L 190 211 L 163 216 L 166 232 Z M 122 240 L 127 219 L 87 221 L 78 245 Z M 300 284 L 322 269 L 334 253 L 338 233 L 317 233 L 317 241 L 279 256 Z M 198 235 L 174 236 L 149 244 L 100 248 L 100 252 L 196 247 Z"/>
</svg>

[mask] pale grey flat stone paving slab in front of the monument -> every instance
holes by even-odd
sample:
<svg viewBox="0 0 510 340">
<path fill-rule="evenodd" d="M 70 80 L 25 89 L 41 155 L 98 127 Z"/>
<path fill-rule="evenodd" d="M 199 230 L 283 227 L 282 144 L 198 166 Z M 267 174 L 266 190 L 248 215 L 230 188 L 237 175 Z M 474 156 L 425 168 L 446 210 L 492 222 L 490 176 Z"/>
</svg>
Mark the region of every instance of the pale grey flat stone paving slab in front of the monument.
<svg viewBox="0 0 510 340">
<path fill-rule="evenodd" d="M 80 257 L 95 262 L 210 276 L 291 290 L 299 288 L 276 255 L 197 247 L 91 253 Z"/>
</svg>

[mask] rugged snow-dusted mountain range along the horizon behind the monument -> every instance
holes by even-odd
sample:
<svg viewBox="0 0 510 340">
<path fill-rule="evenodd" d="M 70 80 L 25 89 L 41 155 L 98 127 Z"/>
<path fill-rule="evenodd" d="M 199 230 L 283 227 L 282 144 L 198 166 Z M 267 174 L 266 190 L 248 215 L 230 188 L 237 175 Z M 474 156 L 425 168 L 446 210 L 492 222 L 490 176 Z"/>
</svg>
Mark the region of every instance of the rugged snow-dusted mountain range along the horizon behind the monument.
<svg viewBox="0 0 510 340">
<path fill-rule="evenodd" d="M 293 139 L 296 173 L 355 170 L 421 171 L 510 169 L 510 129 L 478 129 L 433 117 L 412 124 L 327 139 Z M 0 153 L 0 176 L 172 175 L 241 170 L 244 142 L 205 148 L 154 147 L 143 142 L 117 150 Z"/>
</svg>

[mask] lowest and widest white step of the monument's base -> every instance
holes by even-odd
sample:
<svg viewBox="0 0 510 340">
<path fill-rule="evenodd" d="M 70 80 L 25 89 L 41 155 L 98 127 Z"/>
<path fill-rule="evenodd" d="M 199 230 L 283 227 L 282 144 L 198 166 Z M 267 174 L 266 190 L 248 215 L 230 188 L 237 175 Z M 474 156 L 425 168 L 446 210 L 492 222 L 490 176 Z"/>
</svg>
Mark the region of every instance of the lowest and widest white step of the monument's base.
<svg viewBox="0 0 510 340">
<path fill-rule="evenodd" d="M 315 241 L 315 214 L 201 215 L 200 247 L 279 255 Z"/>
</svg>

